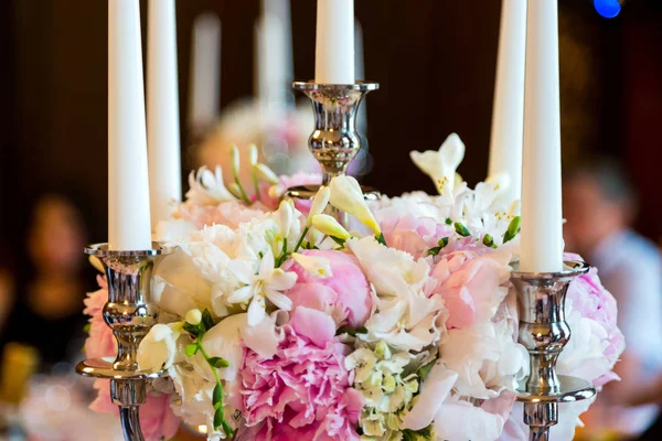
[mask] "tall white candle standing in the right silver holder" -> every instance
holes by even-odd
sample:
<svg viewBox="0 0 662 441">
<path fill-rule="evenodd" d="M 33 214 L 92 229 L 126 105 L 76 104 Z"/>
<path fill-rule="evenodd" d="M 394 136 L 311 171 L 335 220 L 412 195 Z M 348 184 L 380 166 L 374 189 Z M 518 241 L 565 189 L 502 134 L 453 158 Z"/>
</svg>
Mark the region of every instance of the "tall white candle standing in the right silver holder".
<svg viewBox="0 0 662 441">
<path fill-rule="evenodd" d="M 528 0 L 522 171 L 523 271 L 563 268 L 558 2 Z"/>
</svg>

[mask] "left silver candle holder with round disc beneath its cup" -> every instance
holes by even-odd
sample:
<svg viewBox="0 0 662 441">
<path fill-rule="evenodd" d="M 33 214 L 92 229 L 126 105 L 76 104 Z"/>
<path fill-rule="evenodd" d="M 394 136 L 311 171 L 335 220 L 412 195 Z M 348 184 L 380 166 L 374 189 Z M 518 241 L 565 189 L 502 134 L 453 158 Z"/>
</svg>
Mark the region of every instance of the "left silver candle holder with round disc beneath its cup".
<svg viewBox="0 0 662 441">
<path fill-rule="evenodd" d="M 171 252 L 159 244 L 140 251 L 115 251 L 108 244 L 85 248 L 104 266 L 108 282 L 108 303 L 104 321 L 117 340 L 117 357 L 86 359 L 76 366 L 79 375 L 110 380 L 110 398 L 119 407 L 127 441 L 145 441 L 139 409 L 147 400 L 147 383 L 163 373 L 142 370 L 138 365 L 138 346 L 157 323 L 159 311 L 151 301 L 151 275 L 160 258 Z"/>
</svg>

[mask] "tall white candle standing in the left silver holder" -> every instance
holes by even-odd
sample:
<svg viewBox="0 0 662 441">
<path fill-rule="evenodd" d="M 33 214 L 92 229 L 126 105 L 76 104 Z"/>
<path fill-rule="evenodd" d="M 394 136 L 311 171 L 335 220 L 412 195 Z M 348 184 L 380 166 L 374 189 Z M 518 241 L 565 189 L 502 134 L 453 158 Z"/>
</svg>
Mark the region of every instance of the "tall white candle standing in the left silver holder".
<svg viewBox="0 0 662 441">
<path fill-rule="evenodd" d="M 108 0 L 108 243 L 151 248 L 138 0 Z"/>
</svg>

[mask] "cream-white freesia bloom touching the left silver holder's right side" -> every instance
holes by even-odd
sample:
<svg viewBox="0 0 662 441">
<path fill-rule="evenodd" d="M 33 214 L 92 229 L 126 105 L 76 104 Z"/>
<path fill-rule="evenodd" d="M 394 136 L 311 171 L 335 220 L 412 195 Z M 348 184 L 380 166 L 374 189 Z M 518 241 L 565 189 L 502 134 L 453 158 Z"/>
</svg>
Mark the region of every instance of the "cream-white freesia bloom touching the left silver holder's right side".
<svg viewBox="0 0 662 441">
<path fill-rule="evenodd" d="M 177 355 L 177 340 L 182 332 L 182 322 L 152 326 L 138 347 L 140 369 L 159 372 L 172 366 Z"/>
</svg>

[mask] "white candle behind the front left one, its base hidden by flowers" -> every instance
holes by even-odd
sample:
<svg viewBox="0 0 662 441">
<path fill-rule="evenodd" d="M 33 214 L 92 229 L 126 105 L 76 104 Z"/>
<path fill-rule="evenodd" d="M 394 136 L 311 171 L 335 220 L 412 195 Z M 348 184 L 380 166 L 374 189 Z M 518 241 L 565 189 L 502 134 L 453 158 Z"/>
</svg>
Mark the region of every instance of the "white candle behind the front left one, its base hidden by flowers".
<svg viewBox="0 0 662 441">
<path fill-rule="evenodd" d="M 150 0 L 147 140 L 152 230 L 182 198 L 174 0 Z"/>
</svg>

